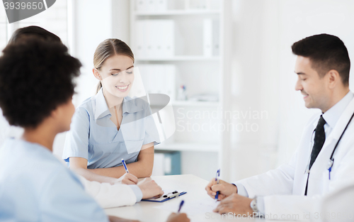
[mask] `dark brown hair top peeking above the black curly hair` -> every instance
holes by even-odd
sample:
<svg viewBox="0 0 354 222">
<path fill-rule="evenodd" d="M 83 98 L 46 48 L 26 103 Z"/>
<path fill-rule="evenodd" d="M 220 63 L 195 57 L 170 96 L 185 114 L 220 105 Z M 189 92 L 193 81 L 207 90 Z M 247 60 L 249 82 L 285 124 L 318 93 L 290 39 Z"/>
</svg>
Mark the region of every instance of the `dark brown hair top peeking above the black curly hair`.
<svg viewBox="0 0 354 222">
<path fill-rule="evenodd" d="M 60 40 L 57 35 L 45 30 L 44 28 L 41 28 L 39 26 L 27 26 L 23 28 L 18 28 L 16 31 L 14 31 L 11 35 L 10 40 L 8 40 L 8 44 L 25 41 L 25 39 L 28 37 L 38 38 L 50 42 L 62 43 L 62 40 Z"/>
</svg>

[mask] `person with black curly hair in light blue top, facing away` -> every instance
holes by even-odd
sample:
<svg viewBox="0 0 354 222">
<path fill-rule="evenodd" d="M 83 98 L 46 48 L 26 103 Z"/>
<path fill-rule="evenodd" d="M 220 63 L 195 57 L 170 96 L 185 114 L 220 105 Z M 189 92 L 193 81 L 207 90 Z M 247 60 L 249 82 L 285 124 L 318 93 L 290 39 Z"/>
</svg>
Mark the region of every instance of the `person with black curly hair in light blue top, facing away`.
<svg viewBox="0 0 354 222">
<path fill-rule="evenodd" d="M 8 123 L 25 131 L 1 149 L 1 219 L 108 221 L 76 175 L 51 153 L 55 135 L 70 128 L 73 78 L 80 67 L 61 43 L 31 38 L 3 50 L 0 106 Z"/>
</svg>

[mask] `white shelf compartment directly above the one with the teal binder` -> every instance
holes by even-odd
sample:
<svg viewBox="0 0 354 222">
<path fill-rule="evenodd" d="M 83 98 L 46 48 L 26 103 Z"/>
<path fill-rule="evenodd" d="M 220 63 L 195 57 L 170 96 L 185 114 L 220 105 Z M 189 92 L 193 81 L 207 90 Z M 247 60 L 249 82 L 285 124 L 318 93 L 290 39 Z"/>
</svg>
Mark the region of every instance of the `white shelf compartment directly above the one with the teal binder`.
<svg viewBox="0 0 354 222">
<path fill-rule="evenodd" d="M 172 105 L 173 106 L 173 105 Z M 219 106 L 173 106 L 173 118 L 166 124 L 172 134 L 160 145 L 159 150 L 217 152 L 222 132 L 222 108 Z M 153 113 L 161 108 L 152 107 Z M 164 115 L 164 113 L 162 113 Z"/>
</svg>

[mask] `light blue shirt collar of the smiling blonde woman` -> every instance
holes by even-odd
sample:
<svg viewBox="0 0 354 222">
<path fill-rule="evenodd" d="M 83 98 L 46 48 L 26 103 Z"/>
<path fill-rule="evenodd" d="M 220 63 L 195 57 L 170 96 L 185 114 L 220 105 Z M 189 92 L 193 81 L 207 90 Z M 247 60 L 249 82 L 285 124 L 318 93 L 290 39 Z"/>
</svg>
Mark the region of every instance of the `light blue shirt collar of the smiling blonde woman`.
<svg viewBox="0 0 354 222">
<path fill-rule="evenodd" d="M 110 114 L 107 103 L 105 102 L 105 96 L 103 96 L 102 88 L 96 96 L 93 96 L 92 99 L 95 101 L 93 103 L 95 120 L 98 118 L 103 118 Z M 122 113 L 136 113 L 142 111 L 142 108 L 137 106 L 138 99 L 132 99 L 129 96 L 126 96 L 123 99 Z"/>
</svg>

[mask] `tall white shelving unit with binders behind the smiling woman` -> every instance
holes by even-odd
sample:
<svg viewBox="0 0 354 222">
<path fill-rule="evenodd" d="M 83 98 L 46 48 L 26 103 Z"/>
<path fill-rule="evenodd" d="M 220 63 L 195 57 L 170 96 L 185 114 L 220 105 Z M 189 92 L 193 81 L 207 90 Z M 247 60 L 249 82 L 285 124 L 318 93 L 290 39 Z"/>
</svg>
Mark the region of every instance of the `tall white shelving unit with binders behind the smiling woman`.
<svg viewBox="0 0 354 222">
<path fill-rule="evenodd" d="M 231 21 L 225 19 L 227 2 L 132 0 L 130 4 L 135 67 L 141 71 L 145 91 L 168 95 L 173 109 L 171 126 L 176 131 L 155 150 L 180 153 L 182 174 L 209 178 L 206 169 L 217 168 L 215 160 L 222 154 L 227 127 L 222 121 L 223 79 L 229 72 L 224 67 L 224 33 L 225 21 Z M 166 106 L 150 102 L 153 113 Z"/>
</svg>

